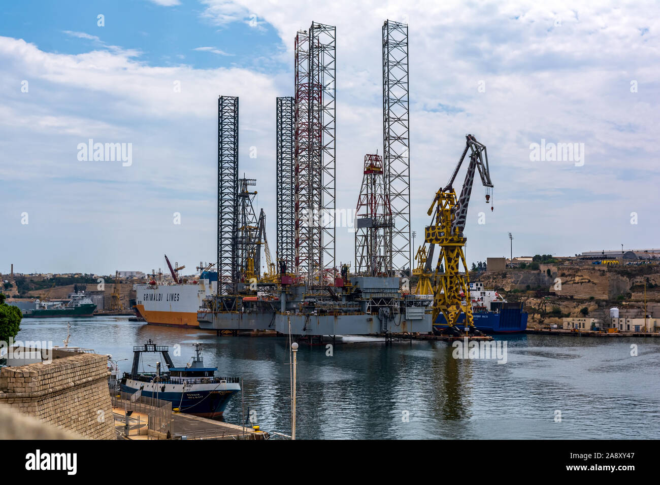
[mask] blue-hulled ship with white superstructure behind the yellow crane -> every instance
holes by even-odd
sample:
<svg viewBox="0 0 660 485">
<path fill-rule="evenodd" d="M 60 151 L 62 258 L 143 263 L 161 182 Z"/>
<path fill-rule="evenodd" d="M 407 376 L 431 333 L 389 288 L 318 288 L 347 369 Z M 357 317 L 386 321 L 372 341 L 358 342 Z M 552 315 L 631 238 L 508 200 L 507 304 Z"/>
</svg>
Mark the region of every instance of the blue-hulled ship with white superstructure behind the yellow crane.
<svg viewBox="0 0 660 485">
<path fill-rule="evenodd" d="M 485 290 L 482 282 L 470 283 L 470 300 L 475 327 L 483 333 L 521 333 L 527 329 L 527 313 L 523 304 L 507 302 L 498 292 Z M 458 327 L 465 330 L 465 313 L 458 319 Z M 433 323 L 433 330 L 441 332 L 447 321 L 440 313 Z"/>
</svg>

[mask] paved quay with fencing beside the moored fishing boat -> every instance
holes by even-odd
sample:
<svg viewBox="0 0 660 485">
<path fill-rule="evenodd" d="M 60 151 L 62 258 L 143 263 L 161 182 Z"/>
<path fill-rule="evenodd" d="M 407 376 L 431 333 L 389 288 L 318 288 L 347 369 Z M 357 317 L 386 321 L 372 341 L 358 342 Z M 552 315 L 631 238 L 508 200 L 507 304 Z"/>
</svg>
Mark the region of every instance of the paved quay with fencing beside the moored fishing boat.
<svg viewBox="0 0 660 485">
<path fill-rule="evenodd" d="M 131 402 L 123 392 L 111 397 L 117 439 L 269 439 L 251 426 L 173 412 L 169 401 L 139 397 Z"/>
</svg>

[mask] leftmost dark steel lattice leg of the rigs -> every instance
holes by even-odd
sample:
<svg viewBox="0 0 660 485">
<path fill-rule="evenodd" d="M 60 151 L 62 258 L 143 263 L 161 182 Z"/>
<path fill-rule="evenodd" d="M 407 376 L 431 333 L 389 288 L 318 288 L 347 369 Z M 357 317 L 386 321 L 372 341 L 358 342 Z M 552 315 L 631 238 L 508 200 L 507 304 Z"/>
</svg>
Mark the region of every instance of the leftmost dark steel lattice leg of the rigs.
<svg viewBox="0 0 660 485">
<path fill-rule="evenodd" d="M 218 294 L 238 291 L 238 97 L 218 98 Z"/>
</svg>

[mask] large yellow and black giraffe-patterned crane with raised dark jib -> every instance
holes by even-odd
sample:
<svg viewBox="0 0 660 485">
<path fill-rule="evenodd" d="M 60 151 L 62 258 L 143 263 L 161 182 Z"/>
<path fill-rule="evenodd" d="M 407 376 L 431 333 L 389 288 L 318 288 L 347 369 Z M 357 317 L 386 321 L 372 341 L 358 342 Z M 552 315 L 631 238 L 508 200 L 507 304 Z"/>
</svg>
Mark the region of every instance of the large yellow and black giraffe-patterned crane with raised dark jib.
<svg viewBox="0 0 660 485">
<path fill-rule="evenodd" d="M 470 152 L 470 162 L 463 181 L 461 195 L 456 197 L 453 189 L 454 180 Z M 488 154 L 486 146 L 482 145 L 473 135 L 465 135 L 465 150 L 447 185 L 438 190 L 433 199 L 428 215 L 435 213 L 430 226 L 426 227 L 424 242 L 429 244 L 428 259 L 426 260 L 426 273 L 430 273 L 435 245 L 440 245 L 440 255 L 436 264 L 436 271 L 432 276 L 433 285 L 433 321 L 442 313 L 449 333 L 459 333 L 456 324 L 461 313 L 465 313 L 465 328 L 471 333 L 479 333 L 475 329 L 470 302 L 470 281 L 465 262 L 463 247 L 467 239 L 463 235 L 467 206 L 470 202 L 475 172 L 479 171 L 481 183 L 486 187 L 486 203 L 492 204 L 492 181 L 488 168 Z M 491 207 L 492 210 L 492 207 Z M 445 272 L 440 273 L 440 265 L 444 262 Z M 463 273 L 459 272 L 459 264 L 463 264 Z"/>
</svg>

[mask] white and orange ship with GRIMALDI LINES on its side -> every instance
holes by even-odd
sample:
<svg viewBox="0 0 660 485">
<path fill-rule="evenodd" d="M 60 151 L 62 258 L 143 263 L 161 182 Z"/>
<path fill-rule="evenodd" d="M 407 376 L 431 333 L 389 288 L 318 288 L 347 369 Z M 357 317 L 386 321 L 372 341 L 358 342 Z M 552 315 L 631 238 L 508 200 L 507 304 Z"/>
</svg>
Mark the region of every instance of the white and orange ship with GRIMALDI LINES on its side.
<svg viewBox="0 0 660 485">
<path fill-rule="evenodd" d="M 216 291 L 218 274 L 202 271 L 199 280 L 135 284 L 135 314 L 150 325 L 199 327 L 197 310 Z"/>
</svg>

